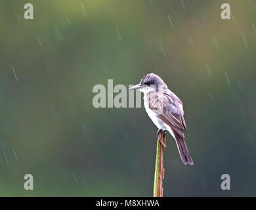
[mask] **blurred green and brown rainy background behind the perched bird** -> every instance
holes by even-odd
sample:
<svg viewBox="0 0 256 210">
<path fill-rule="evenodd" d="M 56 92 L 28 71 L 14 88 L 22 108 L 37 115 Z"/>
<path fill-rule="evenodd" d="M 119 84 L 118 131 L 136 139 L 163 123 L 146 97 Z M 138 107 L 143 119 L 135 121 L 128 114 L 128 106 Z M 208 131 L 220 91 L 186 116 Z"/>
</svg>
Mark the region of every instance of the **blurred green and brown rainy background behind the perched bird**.
<svg viewBox="0 0 256 210">
<path fill-rule="evenodd" d="M 156 126 L 92 103 L 151 72 L 184 103 L 195 164 L 167 135 L 164 196 L 256 196 L 256 1 L 183 3 L 0 1 L 0 196 L 152 196 Z"/>
</svg>

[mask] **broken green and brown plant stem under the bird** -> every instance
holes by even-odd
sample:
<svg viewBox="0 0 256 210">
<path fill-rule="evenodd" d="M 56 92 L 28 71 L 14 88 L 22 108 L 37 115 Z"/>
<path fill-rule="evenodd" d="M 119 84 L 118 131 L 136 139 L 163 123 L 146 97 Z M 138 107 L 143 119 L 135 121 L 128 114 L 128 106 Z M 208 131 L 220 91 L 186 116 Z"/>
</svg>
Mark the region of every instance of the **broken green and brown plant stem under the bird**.
<svg viewBox="0 0 256 210">
<path fill-rule="evenodd" d="M 166 143 L 166 133 L 158 133 L 158 143 L 156 145 L 156 167 L 155 167 L 155 177 L 154 177 L 154 197 L 163 197 L 163 178 L 164 178 L 164 168 L 163 168 L 163 152 L 165 150 Z"/>
</svg>

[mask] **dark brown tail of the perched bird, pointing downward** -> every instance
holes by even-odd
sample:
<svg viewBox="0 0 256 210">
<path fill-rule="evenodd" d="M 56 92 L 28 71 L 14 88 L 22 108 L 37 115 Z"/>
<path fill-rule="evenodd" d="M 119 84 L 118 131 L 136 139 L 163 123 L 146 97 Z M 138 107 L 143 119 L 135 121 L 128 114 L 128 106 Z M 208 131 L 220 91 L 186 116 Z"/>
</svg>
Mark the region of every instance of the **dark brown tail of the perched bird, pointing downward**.
<svg viewBox="0 0 256 210">
<path fill-rule="evenodd" d="M 175 141 L 177 144 L 177 148 L 179 150 L 179 154 L 181 156 L 182 162 L 184 163 L 184 165 L 186 164 L 190 164 L 190 165 L 194 165 L 192 158 L 188 152 L 188 147 L 186 146 L 186 142 L 184 137 L 181 137 L 179 134 L 175 133 Z"/>
</svg>

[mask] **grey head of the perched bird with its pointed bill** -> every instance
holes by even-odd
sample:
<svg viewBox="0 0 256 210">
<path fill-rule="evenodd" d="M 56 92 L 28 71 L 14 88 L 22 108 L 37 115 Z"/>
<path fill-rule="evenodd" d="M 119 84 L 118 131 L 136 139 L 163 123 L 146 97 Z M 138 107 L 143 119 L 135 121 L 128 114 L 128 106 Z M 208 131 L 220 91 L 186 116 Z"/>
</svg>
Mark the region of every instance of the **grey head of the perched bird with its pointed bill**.
<svg viewBox="0 0 256 210">
<path fill-rule="evenodd" d="M 138 89 L 142 93 L 146 94 L 153 91 L 160 91 L 161 89 L 167 89 L 167 85 L 165 85 L 160 76 L 151 73 L 144 75 L 138 85 L 129 88 L 129 90 L 134 89 Z"/>
</svg>

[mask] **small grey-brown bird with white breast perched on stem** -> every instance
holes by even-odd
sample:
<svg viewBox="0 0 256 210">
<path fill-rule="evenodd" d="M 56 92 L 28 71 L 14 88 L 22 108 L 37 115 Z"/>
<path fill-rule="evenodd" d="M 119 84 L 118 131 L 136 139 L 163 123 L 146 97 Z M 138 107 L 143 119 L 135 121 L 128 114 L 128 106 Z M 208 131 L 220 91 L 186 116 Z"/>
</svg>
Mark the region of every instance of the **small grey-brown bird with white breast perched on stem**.
<svg viewBox="0 0 256 210">
<path fill-rule="evenodd" d="M 184 139 L 184 131 L 188 130 L 181 99 L 168 89 L 160 76 L 154 73 L 144 75 L 138 85 L 129 88 L 135 89 L 144 94 L 145 110 L 158 127 L 158 133 L 169 131 L 175 139 L 184 165 L 194 165 Z"/>
</svg>

